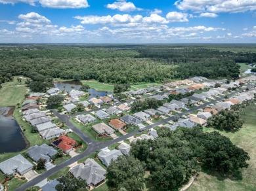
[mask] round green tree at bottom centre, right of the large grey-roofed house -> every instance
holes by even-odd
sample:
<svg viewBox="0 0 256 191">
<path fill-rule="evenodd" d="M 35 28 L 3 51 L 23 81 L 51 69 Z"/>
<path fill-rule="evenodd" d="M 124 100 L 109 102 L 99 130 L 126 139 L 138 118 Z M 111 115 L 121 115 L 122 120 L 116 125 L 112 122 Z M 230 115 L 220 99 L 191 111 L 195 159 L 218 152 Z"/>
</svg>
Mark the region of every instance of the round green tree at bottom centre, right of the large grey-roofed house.
<svg viewBox="0 0 256 191">
<path fill-rule="evenodd" d="M 119 156 L 112 161 L 106 175 L 112 190 L 142 190 L 144 187 L 144 164 L 133 156 Z"/>
</svg>

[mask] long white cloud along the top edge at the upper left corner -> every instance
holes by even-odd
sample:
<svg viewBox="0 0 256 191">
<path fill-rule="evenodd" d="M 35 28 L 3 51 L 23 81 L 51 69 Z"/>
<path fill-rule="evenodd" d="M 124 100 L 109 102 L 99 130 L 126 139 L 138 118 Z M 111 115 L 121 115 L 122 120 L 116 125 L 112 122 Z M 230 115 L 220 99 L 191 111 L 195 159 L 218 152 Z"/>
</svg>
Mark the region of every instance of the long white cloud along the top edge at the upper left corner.
<svg viewBox="0 0 256 191">
<path fill-rule="evenodd" d="M 40 3 L 43 7 L 57 8 L 57 9 L 79 9 L 89 7 L 87 0 L 0 0 L 3 4 L 15 3 L 29 3 L 35 5 Z"/>
</svg>

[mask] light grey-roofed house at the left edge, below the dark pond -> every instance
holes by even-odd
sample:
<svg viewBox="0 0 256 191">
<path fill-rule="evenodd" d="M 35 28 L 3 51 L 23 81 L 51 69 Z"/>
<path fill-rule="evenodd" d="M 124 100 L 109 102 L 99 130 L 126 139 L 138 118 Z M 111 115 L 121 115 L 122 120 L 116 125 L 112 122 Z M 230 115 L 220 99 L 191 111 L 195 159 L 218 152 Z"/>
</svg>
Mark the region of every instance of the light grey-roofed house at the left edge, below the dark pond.
<svg viewBox="0 0 256 191">
<path fill-rule="evenodd" d="M 6 175 L 14 175 L 15 173 L 24 175 L 24 173 L 27 173 L 32 169 L 33 164 L 26 160 L 26 158 L 24 158 L 24 156 L 21 154 L 0 163 L 0 171 Z"/>
</svg>

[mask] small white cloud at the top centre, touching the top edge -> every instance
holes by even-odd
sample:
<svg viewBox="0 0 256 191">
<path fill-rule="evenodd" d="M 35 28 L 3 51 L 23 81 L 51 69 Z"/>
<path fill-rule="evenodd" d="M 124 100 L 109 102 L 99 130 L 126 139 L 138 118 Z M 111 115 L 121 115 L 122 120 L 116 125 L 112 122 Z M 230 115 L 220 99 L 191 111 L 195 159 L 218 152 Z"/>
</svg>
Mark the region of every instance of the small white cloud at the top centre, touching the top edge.
<svg viewBox="0 0 256 191">
<path fill-rule="evenodd" d="M 135 7 L 135 5 L 132 2 L 127 2 L 126 0 L 119 0 L 117 2 L 114 2 L 112 4 L 106 5 L 108 9 L 117 9 L 119 11 L 124 12 L 131 12 L 135 10 L 142 10 L 140 8 Z"/>
</svg>

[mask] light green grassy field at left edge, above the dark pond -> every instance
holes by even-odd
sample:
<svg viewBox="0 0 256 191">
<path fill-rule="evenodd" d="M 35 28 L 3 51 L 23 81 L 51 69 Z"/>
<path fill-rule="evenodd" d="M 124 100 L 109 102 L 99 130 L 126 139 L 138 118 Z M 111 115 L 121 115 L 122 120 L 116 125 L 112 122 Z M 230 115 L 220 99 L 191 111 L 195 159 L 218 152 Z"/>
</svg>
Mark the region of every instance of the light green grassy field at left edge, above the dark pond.
<svg viewBox="0 0 256 191">
<path fill-rule="evenodd" d="M 22 103 L 28 87 L 25 86 L 26 79 L 22 78 L 22 82 L 20 83 L 17 78 L 18 77 L 14 77 L 11 82 L 1 84 L 0 107 L 15 106 L 17 103 Z"/>
</svg>

